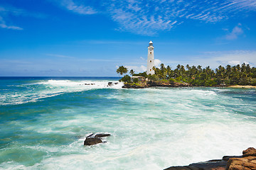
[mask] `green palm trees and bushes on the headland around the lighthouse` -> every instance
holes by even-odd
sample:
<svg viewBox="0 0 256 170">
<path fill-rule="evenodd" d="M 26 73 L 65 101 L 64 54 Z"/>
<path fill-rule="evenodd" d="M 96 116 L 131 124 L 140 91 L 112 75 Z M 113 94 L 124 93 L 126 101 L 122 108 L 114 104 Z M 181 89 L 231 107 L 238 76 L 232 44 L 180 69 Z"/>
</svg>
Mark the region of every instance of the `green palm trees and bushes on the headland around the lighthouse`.
<svg viewBox="0 0 256 170">
<path fill-rule="evenodd" d="M 189 66 L 186 68 L 183 65 L 178 64 L 176 69 L 171 69 L 170 66 L 165 67 L 164 64 L 160 65 L 160 68 L 153 68 L 154 75 L 147 75 L 146 72 L 134 74 L 131 70 L 129 73 L 133 76 L 143 76 L 150 81 L 169 81 L 170 84 L 175 82 L 188 83 L 193 86 L 218 86 L 218 85 L 252 85 L 256 86 L 256 68 L 250 67 L 250 64 L 238 64 L 233 67 L 227 65 L 222 67 L 221 65 L 213 70 L 210 67 L 202 69 L 200 65 Z M 128 69 L 126 67 L 119 67 L 117 73 L 126 74 Z M 121 75 L 122 75 L 121 74 Z M 125 75 L 121 81 L 124 83 L 139 83 L 138 80 L 132 79 L 129 75 Z"/>
</svg>

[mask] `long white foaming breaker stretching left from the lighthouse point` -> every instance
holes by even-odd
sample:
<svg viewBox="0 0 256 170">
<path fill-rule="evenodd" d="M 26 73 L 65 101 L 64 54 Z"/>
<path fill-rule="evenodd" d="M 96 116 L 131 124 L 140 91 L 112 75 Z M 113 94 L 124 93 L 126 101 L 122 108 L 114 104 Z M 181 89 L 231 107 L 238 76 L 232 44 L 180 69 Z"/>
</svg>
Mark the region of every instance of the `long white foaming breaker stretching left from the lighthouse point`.
<svg viewBox="0 0 256 170">
<path fill-rule="evenodd" d="M 24 84 L 24 91 L 6 92 L 0 96 L 0 106 L 17 105 L 36 102 L 42 98 L 49 98 L 66 93 L 87 91 L 92 89 L 122 89 L 124 84 L 118 81 L 70 81 L 48 80 L 36 84 Z"/>
</svg>

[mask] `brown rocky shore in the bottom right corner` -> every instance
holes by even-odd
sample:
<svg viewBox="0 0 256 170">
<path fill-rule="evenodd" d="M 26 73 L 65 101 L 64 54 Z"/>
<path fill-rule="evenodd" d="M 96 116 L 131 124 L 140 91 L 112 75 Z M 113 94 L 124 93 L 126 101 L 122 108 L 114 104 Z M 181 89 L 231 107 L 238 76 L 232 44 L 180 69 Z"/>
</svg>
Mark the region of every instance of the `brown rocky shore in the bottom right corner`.
<svg viewBox="0 0 256 170">
<path fill-rule="evenodd" d="M 255 170 L 256 149 L 249 147 L 242 156 L 224 156 L 207 162 L 198 162 L 188 166 L 171 166 L 164 170 Z"/>
</svg>

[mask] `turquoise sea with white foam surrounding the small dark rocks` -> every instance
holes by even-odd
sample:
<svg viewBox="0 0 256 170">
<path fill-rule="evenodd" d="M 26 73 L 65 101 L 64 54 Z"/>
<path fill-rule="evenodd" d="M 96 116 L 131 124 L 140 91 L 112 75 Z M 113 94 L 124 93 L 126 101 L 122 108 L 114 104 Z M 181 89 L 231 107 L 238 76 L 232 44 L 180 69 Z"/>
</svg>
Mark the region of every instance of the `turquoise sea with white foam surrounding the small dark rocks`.
<svg viewBox="0 0 256 170">
<path fill-rule="evenodd" d="M 1 77 L 0 169 L 164 169 L 256 147 L 255 89 L 109 81 Z M 83 146 L 92 132 L 111 136 Z"/>
</svg>

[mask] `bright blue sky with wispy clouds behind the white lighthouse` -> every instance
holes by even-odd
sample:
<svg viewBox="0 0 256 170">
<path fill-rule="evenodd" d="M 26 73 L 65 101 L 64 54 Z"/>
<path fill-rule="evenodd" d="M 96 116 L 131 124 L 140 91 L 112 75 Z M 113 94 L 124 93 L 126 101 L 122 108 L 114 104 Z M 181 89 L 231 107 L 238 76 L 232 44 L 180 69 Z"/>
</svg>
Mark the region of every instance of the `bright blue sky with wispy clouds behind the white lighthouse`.
<svg viewBox="0 0 256 170">
<path fill-rule="evenodd" d="M 256 0 L 0 0 L 0 76 L 117 77 L 124 65 L 256 67 Z"/>
</svg>

